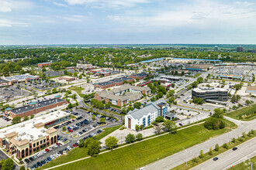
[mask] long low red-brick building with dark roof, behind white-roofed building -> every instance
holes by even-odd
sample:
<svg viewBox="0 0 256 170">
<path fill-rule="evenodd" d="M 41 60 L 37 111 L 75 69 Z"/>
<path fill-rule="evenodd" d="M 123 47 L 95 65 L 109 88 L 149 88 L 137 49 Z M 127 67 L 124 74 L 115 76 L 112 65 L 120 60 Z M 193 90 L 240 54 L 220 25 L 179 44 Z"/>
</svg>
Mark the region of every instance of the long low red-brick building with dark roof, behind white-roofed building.
<svg viewBox="0 0 256 170">
<path fill-rule="evenodd" d="M 40 102 L 29 102 L 26 106 L 11 108 L 8 107 L 5 109 L 5 115 L 9 117 L 25 117 L 32 114 L 38 114 L 42 111 L 50 110 L 55 107 L 60 107 L 64 104 L 67 104 L 66 100 L 60 98 L 60 96 L 54 97 L 54 99 L 42 100 Z"/>
</svg>

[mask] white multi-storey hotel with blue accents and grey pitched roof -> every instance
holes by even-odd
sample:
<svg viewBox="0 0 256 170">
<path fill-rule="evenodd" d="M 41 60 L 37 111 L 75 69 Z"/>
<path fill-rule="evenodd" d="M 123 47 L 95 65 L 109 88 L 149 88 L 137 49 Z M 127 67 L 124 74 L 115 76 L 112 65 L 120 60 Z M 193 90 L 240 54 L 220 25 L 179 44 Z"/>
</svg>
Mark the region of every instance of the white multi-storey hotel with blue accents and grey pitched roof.
<svg viewBox="0 0 256 170">
<path fill-rule="evenodd" d="M 136 130 L 136 125 L 149 126 L 156 117 L 162 116 L 168 112 L 168 103 L 164 100 L 157 100 L 148 103 L 141 109 L 130 110 L 125 116 L 125 126 L 128 129 Z"/>
</svg>

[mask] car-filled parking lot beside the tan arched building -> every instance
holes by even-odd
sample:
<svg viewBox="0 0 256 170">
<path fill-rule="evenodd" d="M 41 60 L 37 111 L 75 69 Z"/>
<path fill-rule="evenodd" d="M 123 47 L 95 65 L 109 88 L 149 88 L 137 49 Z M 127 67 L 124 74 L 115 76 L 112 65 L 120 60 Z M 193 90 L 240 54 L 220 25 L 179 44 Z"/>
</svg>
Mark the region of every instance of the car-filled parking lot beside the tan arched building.
<svg viewBox="0 0 256 170">
<path fill-rule="evenodd" d="M 39 157 L 34 157 L 34 155 L 32 155 L 31 157 L 33 158 L 33 160 L 31 159 L 31 157 L 29 157 L 30 159 L 27 158 L 25 161 L 27 164 L 27 168 L 33 169 L 32 167 L 43 165 L 51 161 L 52 159 L 63 155 L 64 152 L 68 152 L 71 149 L 78 147 L 78 143 L 81 138 L 83 138 L 84 140 L 86 140 L 86 138 L 92 138 L 93 136 L 102 133 L 103 128 L 108 128 L 121 124 L 121 122 L 113 122 L 111 119 L 109 119 L 106 120 L 107 124 L 97 125 L 100 116 L 97 115 L 95 117 L 95 121 L 92 121 L 92 114 L 88 113 L 85 110 L 75 110 L 75 112 L 73 112 L 72 114 L 78 117 L 63 124 L 58 124 L 56 127 L 54 127 L 57 129 L 58 144 L 48 147 L 47 149 L 49 150 L 42 150 L 40 152 L 37 152 L 40 153 L 37 154 Z M 87 123 L 82 123 L 83 121 Z M 64 126 L 66 128 L 72 127 L 72 132 L 68 134 L 61 132 Z M 81 134 L 78 135 L 79 132 L 81 132 Z M 74 135 L 77 138 L 74 138 Z"/>
</svg>

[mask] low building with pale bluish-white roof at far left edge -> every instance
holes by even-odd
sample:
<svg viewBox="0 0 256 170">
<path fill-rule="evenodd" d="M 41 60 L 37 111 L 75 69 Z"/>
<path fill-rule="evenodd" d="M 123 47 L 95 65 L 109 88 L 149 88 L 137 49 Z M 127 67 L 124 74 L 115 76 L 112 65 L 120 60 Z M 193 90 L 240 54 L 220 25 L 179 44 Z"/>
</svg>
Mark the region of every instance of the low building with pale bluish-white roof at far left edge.
<svg viewBox="0 0 256 170">
<path fill-rule="evenodd" d="M 32 80 L 39 80 L 40 76 L 32 76 L 29 73 L 26 73 L 26 74 L 20 74 L 20 75 L 16 75 L 16 76 L 6 76 L 6 77 L 2 76 L 1 79 L 9 81 L 10 84 L 12 84 L 12 83 L 28 83 Z"/>
</svg>

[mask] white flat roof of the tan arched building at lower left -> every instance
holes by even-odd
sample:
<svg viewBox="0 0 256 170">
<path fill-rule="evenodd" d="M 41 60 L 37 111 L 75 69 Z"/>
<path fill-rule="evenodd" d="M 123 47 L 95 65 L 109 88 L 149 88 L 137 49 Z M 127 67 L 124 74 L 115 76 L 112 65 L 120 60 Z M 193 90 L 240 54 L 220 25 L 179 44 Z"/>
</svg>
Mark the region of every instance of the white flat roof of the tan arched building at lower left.
<svg viewBox="0 0 256 170">
<path fill-rule="evenodd" d="M 51 114 L 36 117 L 36 118 L 30 119 L 28 121 L 23 121 L 19 124 L 14 124 L 12 126 L 2 128 L 2 129 L 0 129 L 0 138 L 5 138 L 5 134 L 10 134 L 12 132 L 16 132 L 18 134 L 18 138 L 21 138 L 21 140 L 27 139 L 29 141 L 34 141 L 38 138 L 42 138 L 42 137 L 39 137 L 40 134 L 42 136 L 47 135 L 47 133 L 46 133 L 47 129 L 46 128 L 39 128 L 39 129 L 35 128 L 36 124 L 47 124 L 47 123 L 50 123 L 51 121 L 55 121 L 57 119 L 66 117 L 68 115 L 70 115 L 70 114 L 66 113 L 62 110 L 57 110 Z"/>
</svg>

